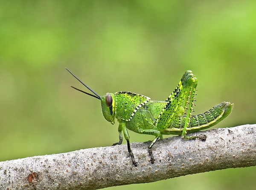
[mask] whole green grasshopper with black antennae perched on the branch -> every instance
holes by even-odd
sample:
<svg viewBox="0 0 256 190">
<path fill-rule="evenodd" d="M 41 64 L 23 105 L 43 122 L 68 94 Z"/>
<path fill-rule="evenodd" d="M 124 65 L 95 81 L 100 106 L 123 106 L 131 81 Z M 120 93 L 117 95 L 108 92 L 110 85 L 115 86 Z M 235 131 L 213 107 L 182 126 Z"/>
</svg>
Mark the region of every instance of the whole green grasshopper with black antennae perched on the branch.
<svg viewBox="0 0 256 190">
<path fill-rule="evenodd" d="M 68 69 L 67 71 L 70 72 Z M 94 95 L 71 86 L 72 88 L 99 99 L 104 118 L 111 124 L 115 123 L 115 118 L 117 119 L 119 122 L 119 142 L 113 145 L 122 144 L 123 132 L 131 161 L 135 167 L 138 166 L 138 163 L 134 160 L 128 130 L 155 136 L 148 146 L 150 161 L 154 164 L 152 146 L 158 138 L 172 134 L 182 135 L 182 138 L 185 139 L 199 138 L 204 141 L 206 140 L 205 135 L 186 136 L 186 134 L 214 126 L 226 118 L 233 107 L 230 102 L 222 102 L 204 113 L 192 115 L 191 112 L 194 111 L 193 106 L 195 106 L 193 101 L 195 101 L 195 91 L 198 84 L 198 79 L 195 78 L 192 71 L 186 71 L 183 74 L 178 86 L 166 101 L 152 101 L 144 95 L 123 91 L 114 94 L 106 93 L 101 97 L 72 72 L 70 73 Z M 187 113 L 185 109 L 187 109 Z"/>
</svg>

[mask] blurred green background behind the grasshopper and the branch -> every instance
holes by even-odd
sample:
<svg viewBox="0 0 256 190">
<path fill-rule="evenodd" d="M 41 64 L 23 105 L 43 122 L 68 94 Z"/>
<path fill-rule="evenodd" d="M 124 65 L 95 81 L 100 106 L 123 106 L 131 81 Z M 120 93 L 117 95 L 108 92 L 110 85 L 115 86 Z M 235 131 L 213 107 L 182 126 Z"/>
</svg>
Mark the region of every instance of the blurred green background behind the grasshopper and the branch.
<svg viewBox="0 0 256 190">
<path fill-rule="evenodd" d="M 0 161 L 118 141 L 99 95 L 165 100 L 186 70 L 198 78 L 195 114 L 235 104 L 215 127 L 255 124 L 256 1 L 0 2 Z M 154 137 L 130 132 L 131 142 Z M 108 189 L 254 189 L 256 167 Z"/>
</svg>

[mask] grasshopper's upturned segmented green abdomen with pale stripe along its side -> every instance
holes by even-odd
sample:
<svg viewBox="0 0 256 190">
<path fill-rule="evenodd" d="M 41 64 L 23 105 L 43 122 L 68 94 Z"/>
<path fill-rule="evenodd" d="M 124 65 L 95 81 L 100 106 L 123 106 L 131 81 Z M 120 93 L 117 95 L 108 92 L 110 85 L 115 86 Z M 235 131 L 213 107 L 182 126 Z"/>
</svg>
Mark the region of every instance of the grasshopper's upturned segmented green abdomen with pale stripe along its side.
<svg viewBox="0 0 256 190">
<path fill-rule="evenodd" d="M 233 104 L 230 104 L 230 102 L 222 102 L 221 104 L 212 107 L 204 113 L 199 115 L 192 115 L 189 126 L 187 127 L 187 133 L 207 129 L 214 126 L 230 114 L 232 107 Z M 181 135 L 185 121 L 185 116 L 176 117 L 172 121 L 172 124 L 166 130 L 161 132 L 161 134 Z"/>
</svg>

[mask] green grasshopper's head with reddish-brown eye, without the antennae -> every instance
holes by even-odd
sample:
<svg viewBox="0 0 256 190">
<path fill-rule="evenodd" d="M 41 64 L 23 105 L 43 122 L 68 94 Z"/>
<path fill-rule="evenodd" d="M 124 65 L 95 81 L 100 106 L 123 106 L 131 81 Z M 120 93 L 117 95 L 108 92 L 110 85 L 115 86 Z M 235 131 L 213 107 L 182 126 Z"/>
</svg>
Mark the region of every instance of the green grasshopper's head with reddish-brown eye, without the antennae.
<svg viewBox="0 0 256 190">
<path fill-rule="evenodd" d="M 116 97 L 112 93 L 106 93 L 101 98 L 102 104 L 102 113 L 104 118 L 111 122 L 111 124 L 115 123 L 115 115 L 116 115 Z"/>
</svg>

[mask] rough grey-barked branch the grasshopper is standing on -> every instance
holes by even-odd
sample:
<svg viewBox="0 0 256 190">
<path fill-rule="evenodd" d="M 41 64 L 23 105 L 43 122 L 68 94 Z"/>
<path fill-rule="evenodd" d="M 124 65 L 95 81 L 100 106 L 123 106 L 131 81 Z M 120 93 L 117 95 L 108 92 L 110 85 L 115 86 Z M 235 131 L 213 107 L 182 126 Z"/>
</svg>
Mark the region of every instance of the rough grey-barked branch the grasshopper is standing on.
<svg viewBox="0 0 256 190">
<path fill-rule="evenodd" d="M 138 167 L 132 165 L 126 144 L 2 161 L 0 190 L 92 190 L 256 165 L 256 124 L 192 134 L 207 139 L 158 140 L 154 164 L 149 162 L 149 141 L 132 143 Z"/>
</svg>

